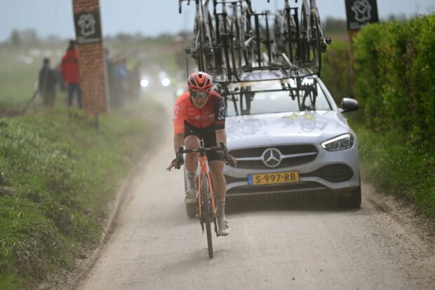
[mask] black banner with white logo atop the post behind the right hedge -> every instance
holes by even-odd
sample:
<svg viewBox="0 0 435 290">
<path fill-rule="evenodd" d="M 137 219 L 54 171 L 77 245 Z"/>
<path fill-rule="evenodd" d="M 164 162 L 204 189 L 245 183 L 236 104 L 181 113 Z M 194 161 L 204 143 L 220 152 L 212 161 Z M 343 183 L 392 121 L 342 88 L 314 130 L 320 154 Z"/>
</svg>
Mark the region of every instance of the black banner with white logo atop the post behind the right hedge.
<svg viewBox="0 0 435 290">
<path fill-rule="evenodd" d="M 376 0 L 345 0 L 347 30 L 357 32 L 368 23 L 379 22 Z"/>
</svg>

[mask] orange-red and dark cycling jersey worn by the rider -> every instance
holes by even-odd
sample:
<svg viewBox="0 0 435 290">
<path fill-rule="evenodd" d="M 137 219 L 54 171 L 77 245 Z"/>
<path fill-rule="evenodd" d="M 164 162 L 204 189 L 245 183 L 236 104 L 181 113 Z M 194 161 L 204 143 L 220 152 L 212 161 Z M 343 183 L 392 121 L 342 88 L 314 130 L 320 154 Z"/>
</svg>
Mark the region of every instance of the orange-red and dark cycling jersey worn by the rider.
<svg viewBox="0 0 435 290">
<path fill-rule="evenodd" d="M 174 134 L 185 133 L 185 122 L 196 128 L 214 125 L 215 130 L 225 129 L 225 99 L 215 90 L 210 90 L 207 104 L 196 108 L 189 92 L 183 93 L 174 106 Z"/>
</svg>

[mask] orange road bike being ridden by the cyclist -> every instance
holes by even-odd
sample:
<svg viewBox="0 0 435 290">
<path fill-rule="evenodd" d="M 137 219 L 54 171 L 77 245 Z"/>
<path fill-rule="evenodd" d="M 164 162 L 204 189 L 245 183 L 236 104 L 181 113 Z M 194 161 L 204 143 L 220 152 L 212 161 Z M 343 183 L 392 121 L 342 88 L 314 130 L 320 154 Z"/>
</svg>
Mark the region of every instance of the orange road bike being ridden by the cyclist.
<svg viewBox="0 0 435 290">
<path fill-rule="evenodd" d="M 201 223 L 201 228 L 204 233 L 204 226 L 206 228 L 207 234 L 207 246 L 208 246 L 208 257 L 213 258 L 213 240 L 211 235 L 211 224 L 215 226 L 216 237 L 219 236 L 219 231 L 217 230 L 216 221 L 216 202 L 215 195 L 213 193 L 212 181 L 210 179 L 210 173 L 207 169 L 207 156 L 206 152 L 222 152 L 225 160 L 231 160 L 227 146 L 225 146 L 223 141 L 220 141 L 220 146 L 213 146 L 210 148 L 204 147 L 203 139 L 200 140 L 199 149 L 184 149 L 180 146 L 175 159 L 175 164 L 178 164 L 182 160 L 183 153 L 199 153 L 199 175 L 198 175 L 198 196 L 197 196 L 197 210 L 199 222 Z"/>
</svg>

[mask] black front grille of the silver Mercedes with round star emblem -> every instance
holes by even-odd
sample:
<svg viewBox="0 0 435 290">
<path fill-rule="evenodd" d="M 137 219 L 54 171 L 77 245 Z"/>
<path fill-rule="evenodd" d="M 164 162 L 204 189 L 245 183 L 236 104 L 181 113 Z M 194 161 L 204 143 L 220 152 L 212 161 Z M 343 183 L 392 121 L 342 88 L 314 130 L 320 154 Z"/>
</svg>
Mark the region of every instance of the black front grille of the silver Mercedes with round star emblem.
<svg viewBox="0 0 435 290">
<path fill-rule="evenodd" d="M 281 163 L 276 167 L 268 167 L 262 159 L 263 153 L 267 149 L 278 149 L 281 152 Z M 297 166 L 312 162 L 316 159 L 318 151 L 316 146 L 311 144 L 287 145 L 287 146 L 268 146 L 248 149 L 237 149 L 229 152 L 237 158 L 237 167 L 250 169 L 271 169 Z"/>
</svg>

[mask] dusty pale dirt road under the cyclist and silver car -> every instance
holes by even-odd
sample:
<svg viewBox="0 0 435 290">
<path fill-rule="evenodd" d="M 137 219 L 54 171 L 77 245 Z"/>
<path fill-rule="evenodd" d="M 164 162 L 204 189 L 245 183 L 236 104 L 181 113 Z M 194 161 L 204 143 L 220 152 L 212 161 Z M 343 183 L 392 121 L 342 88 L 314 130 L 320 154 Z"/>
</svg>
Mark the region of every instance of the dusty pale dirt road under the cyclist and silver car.
<svg viewBox="0 0 435 290">
<path fill-rule="evenodd" d="M 435 289 L 433 238 L 369 202 L 367 185 L 358 210 L 330 198 L 227 202 L 232 233 L 214 237 L 210 260 L 199 222 L 185 214 L 182 172 L 165 171 L 173 158 L 165 120 L 168 137 L 76 289 Z"/>
</svg>

